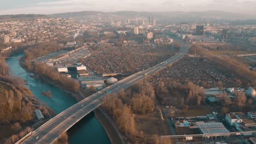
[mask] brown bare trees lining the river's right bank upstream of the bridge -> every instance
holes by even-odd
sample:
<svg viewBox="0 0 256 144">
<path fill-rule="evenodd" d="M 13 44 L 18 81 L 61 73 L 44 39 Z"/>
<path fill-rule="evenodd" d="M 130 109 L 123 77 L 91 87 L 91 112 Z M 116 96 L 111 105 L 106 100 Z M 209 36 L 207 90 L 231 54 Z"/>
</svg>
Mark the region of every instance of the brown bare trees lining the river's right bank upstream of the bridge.
<svg viewBox="0 0 256 144">
<path fill-rule="evenodd" d="M 50 67 L 43 62 L 34 62 L 31 65 L 31 62 L 26 61 L 26 64 L 27 68 L 33 70 L 34 73 L 45 76 L 48 79 L 53 80 L 55 83 L 58 83 L 61 86 L 69 89 L 70 91 L 77 92 L 79 90 L 80 85 L 77 80 L 70 79 L 64 75 L 59 74 L 53 67 Z"/>
</svg>

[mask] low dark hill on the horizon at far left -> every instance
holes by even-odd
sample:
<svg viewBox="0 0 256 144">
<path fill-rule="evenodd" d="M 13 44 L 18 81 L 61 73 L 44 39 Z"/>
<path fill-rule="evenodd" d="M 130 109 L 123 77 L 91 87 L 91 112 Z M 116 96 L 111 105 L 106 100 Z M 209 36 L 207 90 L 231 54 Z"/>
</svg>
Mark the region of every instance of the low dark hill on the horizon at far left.
<svg viewBox="0 0 256 144">
<path fill-rule="evenodd" d="M 47 15 L 38 14 L 19 14 L 19 15 L 0 15 L 0 21 L 27 20 L 39 17 L 47 17 Z"/>
</svg>

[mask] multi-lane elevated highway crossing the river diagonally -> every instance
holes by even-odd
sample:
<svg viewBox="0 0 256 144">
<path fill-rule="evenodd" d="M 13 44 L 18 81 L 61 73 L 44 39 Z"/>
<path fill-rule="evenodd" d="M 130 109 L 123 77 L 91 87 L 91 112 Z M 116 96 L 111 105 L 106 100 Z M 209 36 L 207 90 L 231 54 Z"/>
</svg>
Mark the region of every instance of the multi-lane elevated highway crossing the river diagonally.
<svg viewBox="0 0 256 144">
<path fill-rule="evenodd" d="M 167 59 L 165 62 L 155 65 L 152 68 L 133 74 L 126 79 L 104 88 L 95 94 L 92 94 L 90 97 L 85 98 L 82 101 L 79 101 L 77 104 L 69 107 L 67 110 L 59 113 L 59 115 L 32 131 L 32 134 L 24 141 L 18 141 L 16 143 L 53 143 L 63 133 L 65 133 L 65 131 L 80 121 L 80 119 L 100 106 L 103 103 L 103 98 L 108 94 L 109 91 L 112 91 L 112 93 L 118 93 L 121 89 L 129 88 L 133 84 L 145 79 L 150 75 L 153 75 L 161 69 L 164 69 L 167 65 L 178 61 L 187 52 L 188 47 L 185 46 L 184 43 L 181 43 L 181 50 L 177 55 Z"/>
</svg>

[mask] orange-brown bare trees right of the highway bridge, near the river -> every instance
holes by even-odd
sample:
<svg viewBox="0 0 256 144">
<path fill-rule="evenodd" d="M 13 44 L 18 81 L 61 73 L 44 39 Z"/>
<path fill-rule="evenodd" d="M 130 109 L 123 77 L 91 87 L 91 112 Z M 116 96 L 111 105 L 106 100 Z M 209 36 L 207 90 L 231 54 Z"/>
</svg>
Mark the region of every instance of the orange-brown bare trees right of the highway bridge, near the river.
<svg viewBox="0 0 256 144">
<path fill-rule="evenodd" d="M 134 114 L 155 112 L 155 91 L 152 85 L 144 84 L 110 94 L 104 98 L 104 109 L 114 119 L 118 128 L 126 135 L 127 141 L 135 142 L 135 137 L 142 137 L 143 132 L 137 131 Z"/>
</svg>

